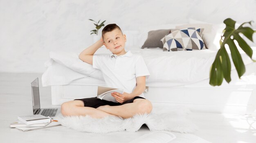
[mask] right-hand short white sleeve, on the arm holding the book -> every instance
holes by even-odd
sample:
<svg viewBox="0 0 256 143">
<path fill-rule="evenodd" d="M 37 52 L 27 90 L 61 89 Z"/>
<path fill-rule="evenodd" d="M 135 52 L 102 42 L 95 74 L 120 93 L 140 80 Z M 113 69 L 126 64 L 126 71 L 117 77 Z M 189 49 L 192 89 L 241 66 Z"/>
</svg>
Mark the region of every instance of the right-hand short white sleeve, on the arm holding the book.
<svg viewBox="0 0 256 143">
<path fill-rule="evenodd" d="M 135 77 L 149 76 L 148 68 L 142 56 L 139 56 L 135 63 Z"/>
</svg>

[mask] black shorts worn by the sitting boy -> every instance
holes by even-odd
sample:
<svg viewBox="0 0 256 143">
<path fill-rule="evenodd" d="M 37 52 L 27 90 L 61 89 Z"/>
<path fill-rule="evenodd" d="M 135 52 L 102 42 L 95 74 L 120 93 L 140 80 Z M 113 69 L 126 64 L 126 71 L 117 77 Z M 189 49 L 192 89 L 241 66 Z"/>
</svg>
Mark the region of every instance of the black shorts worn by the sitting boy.
<svg viewBox="0 0 256 143">
<path fill-rule="evenodd" d="M 116 103 L 116 102 L 101 100 L 97 97 L 95 97 L 95 98 L 75 99 L 75 100 L 82 100 L 85 107 L 98 108 L 99 106 L 103 106 L 103 105 L 119 106 L 119 105 L 123 105 L 123 104 L 127 104 L 127 103 L 132 103 L 133 100 L 135 100 L 137 98 L 145 99 L 145 98 L 142 98 L 142 97 L 139 97 L 139 96 L 135 96 L 135 98 L 127 100 L 126 102 L 123 102 L 123 103 Z"/>
</svg>

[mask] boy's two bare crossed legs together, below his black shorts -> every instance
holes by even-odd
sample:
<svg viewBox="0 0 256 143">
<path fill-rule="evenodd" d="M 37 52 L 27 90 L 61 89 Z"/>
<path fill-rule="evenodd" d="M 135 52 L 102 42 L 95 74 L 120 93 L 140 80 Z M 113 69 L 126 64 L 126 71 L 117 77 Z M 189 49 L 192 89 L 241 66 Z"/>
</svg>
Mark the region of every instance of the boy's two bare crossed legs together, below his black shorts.
<svg viewBox="0 0 256 143">
<path fill-rule="evenodd" d="M 81 100 L 64 102 L 61 105 L 61 113 L 64 116 L 90 115 L 93 118 L 103 118 L 110 115 L 116 115 L 123 118 L 132 117 L 135 114 L 150 113 L 152 104 L 150 101 L 137 98 L 133 103 L 127 103 L 120 106 L 99 106 L 98 108 L 84 107 Z"/>
</svg>

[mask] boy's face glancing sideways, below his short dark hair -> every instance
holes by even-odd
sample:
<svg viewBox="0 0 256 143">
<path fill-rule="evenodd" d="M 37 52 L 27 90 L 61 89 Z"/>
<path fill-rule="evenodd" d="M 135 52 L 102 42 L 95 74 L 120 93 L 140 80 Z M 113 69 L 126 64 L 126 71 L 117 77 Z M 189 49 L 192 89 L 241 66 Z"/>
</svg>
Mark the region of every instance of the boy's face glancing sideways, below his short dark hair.
<svg viewBox="0 0 256 143">
<path fill-rule="evenodd" d="M 122 55 L 125 54 L 124 46 L 126 42 L 126 35 L 123 35 L 121 30 L 115 28 L 110 32 L 104 34 L 104 45 L 113 54 Z"/>
</svg>

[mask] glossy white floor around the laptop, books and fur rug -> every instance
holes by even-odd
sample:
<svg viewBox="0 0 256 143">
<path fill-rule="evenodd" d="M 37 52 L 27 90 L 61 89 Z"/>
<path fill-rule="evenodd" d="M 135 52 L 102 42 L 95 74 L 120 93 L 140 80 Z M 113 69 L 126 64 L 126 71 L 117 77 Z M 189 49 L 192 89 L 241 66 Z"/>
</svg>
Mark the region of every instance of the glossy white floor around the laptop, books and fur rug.
<svg viewBox="0 0 256 143">
<path fill-rule="evenodd" d="M 150 132 L 147 127 L 142 127 L 138 132 L 108 134 L 77 132 L 65 126 L 27 132 L 9 128 L 9 124 L 15 121 L 18 115 L 30 113 L 30 83 L 36 77 L 40 82 L 41 106 L 52 106 L 51 89 L 41 86 L 41 75 L 0 73 L 0 143 L 128 143 Z M 189 119 L 199 127 L 199 130 L 193 134 L 212 143 L 256 143 L 256 115 L 193 112 L 189 115 Z M 180 135 L 177 132 L 173 133 Z"/>
</svg>

